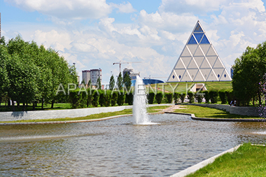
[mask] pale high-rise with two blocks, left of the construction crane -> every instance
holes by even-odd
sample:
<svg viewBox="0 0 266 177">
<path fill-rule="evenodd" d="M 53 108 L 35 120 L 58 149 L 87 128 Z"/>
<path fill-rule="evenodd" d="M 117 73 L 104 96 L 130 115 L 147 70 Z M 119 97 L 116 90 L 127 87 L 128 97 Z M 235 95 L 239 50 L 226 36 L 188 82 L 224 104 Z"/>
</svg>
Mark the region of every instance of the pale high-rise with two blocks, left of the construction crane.
<svg viewBox="0 0 266 177">
<path fill-rule="evenodd" d="M 82 81 L 84 80 L 85 84 L 92 82 L 92 85 L 96 85 L 97 79 L 100 78 L 102 83 L 102 69 L 90 69 L 82 71 Z"/>
</svg>

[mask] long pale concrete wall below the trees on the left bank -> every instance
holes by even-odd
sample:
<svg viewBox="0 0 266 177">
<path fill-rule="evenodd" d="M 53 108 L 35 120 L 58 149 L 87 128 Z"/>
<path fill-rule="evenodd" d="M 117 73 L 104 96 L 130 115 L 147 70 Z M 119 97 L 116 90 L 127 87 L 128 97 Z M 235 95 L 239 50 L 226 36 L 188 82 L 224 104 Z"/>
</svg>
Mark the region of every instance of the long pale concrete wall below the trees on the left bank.
<svg viewBox="0 0 266 177">
<path fill-rule="evenodd" d="M 152 104 L 149 106 L 169 106 L 173 104 Z M 17 111 L 17 112 L 1 112 L 0 122 L 14 120 L 38 120 L 38 119 L 55 119 L 55 118 L 78 118 L 87 115 L 108 113 L 115 111 L 123 111 L 130 109 L 133 106 L 113 106 L 99 108 L 78 108 L 64 110 L 49 110 L 49 111 Z"/>
</svg>

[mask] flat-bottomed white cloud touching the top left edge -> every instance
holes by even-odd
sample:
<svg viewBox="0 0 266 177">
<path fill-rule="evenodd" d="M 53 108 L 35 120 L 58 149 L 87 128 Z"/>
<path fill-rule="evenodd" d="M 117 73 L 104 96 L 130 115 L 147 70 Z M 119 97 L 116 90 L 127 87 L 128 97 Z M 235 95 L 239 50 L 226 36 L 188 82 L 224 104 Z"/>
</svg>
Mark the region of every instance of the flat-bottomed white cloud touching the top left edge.
<svg viewBox="0 0 266 177">
<path fill-rule="evenodd" d="M 111 13 L 105 0 L 4 0 L 28 11 L 38 11 L 62 19 L 99 19 Z"/>
</svg>

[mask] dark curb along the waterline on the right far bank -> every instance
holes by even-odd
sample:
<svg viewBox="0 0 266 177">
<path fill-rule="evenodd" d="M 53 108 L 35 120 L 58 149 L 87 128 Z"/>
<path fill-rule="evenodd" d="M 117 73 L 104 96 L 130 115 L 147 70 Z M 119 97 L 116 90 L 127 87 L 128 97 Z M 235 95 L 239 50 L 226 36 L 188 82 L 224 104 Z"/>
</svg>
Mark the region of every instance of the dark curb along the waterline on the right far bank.
<svg viewBox="0 0 266 177">
<path fill-rule="evenodd" d="M 194 114 L 190 113 L 175 113 L 175 112 L 165 112 L 170 114 L 179 114 L 179 115 L 190 115 L 193 120 L 202 120 L 202 121 L 220 121 L 220 122 L 266 122 L 266 119 L 220 119 L 220 118 L 197 118 Z"/>
</svg>

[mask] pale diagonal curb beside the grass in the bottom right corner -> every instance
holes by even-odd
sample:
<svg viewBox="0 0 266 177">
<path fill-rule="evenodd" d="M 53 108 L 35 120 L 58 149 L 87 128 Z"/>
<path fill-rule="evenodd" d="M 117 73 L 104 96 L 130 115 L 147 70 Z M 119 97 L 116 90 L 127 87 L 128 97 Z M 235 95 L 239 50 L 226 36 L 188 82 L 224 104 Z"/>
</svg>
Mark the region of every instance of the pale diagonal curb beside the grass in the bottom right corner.
<svg viewBox="0 0 266 177">
<path fill-rule="evenodd" d="M 212 162 L 214 162 L 214 160 L 216 160 L 217 157 L 220 157 L 221 155 L 224 155 L 225 153 L 232 153 L 235 150 L 237 150 L 240 146 L 241 146 L 241 144 L 239 144 L 238 146 L 235 146 L 234 148 L 230 148 L 230 150 L 225 150 L 223 153 L 220 153 L 218 155 L 214 155 L 213 157 L 211 157 L 207 160 L 204 160 L 198 164 L 195 164 L 192 167 L 189 167 L 188 169 L 184 169 L 182 171 L 179 171 L 179 173 L 173 174 L 171 177 L 183 177 L 183 176 L 187 176 L 189 174 L 193 174 L 195 171 L 202 169 L 203 167 L 207 166 L 207 164 L 211 164 Z"/>
</svg>

